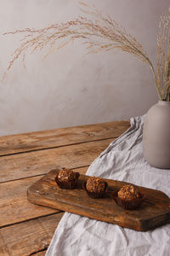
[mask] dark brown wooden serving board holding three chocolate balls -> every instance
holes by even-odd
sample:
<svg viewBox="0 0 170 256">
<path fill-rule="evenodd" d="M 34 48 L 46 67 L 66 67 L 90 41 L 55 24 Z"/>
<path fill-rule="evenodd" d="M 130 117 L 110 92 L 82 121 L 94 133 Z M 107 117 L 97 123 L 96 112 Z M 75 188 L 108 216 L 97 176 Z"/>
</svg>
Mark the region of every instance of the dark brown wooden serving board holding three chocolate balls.
<svg viewBox="0 0 170 256">
<path fill-rule="evenodd" d="M 48 172 L 32 184 L 27 190 L 28 200 L 44 207 L 77 213 L 139 231 L 170 223 L 170 198 L 159 190 L 135 186 L 146 198 L 139 209 L 125 210 L 111 199 L 111 190 L 121 189 L 127 183 L 105 179 L 108 183 L 105 198 L 92 199 L 82 189 L 82 183 L 88 176 L 80 175 L 77 189 L 59 189 L 54 181 L 57 172 L 59 169 Z"/>
</svg>

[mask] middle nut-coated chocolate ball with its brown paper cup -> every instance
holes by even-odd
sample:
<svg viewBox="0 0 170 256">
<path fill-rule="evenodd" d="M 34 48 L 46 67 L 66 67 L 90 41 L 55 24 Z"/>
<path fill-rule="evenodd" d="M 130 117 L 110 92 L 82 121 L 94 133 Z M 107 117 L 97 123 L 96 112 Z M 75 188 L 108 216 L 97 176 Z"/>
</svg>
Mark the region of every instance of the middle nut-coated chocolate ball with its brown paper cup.
<svg viewBox="0 0 170 256">
<path fill-rule="evenodd" d="M 83 189 L 93 198 L 103 197 L 107 183 L 100 177 L 88 177 L 86 183 L 83 183 Z"/>
</svg>

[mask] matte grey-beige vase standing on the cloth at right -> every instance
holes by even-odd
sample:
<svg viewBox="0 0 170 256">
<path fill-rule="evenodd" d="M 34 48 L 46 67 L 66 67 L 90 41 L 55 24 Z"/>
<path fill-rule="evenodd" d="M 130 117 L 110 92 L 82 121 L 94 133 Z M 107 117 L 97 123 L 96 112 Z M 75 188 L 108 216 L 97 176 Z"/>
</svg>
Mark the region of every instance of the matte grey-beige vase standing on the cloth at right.
<svg viewBox="0 0 170 256">
<path fill-rule="evenodd" d="M 159 101 L 144 119 L 144 158 L 161 169 L 170 169 L 170 102 Z"/>
</svg>

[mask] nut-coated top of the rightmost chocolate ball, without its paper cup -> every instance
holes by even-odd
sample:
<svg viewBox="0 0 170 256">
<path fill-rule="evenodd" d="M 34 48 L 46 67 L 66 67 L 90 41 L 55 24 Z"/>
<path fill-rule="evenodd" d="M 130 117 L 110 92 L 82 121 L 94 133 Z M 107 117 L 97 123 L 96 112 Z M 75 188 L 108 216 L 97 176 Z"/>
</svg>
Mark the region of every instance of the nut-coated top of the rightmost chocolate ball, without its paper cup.
<svg viewBox="0 0 170 256">
<path fill-rule="evenodd" d="M 139 198 L 139 190 L 135 189 L 133 185 L 125 185 L 118 192 L 118 197 L 122 200 L 131 201 Z"/>
</svg>

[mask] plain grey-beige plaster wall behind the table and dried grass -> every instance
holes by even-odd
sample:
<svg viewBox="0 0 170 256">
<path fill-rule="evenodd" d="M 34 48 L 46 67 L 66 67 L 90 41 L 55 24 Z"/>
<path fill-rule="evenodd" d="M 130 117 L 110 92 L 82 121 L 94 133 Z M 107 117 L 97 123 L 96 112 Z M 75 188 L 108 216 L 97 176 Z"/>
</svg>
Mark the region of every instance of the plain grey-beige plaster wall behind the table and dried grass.
<svg viewBox="0 0 170 256">
<path fill-rule="evenodd" d="M 169 0 L 91 0 L 127 28 L 156 62 L 159 16 Z M 73 0 L 0 0 L 0 75 L 20 37 L 3 32 L 41 28 L 81 15 Z M 0 135 L 128 119 L 157 101 L 147 64 L 120 51 L 87 55 L 80 42 L 16 61 L 0 84 Z"/>
</svg>

